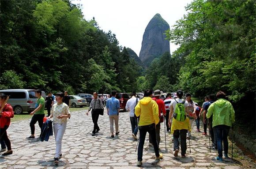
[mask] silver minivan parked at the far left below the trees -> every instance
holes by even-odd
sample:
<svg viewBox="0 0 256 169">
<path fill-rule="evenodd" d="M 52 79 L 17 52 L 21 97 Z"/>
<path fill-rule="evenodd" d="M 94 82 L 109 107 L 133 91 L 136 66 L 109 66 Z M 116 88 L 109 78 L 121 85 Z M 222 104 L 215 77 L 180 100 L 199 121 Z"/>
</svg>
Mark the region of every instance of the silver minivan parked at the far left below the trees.
<svg viewBox="0 0 256 169">
<path fill-rule="evenodd" d="M 15 114 L 21 114 L 23 112 L 32 112 L 35 109 L 37 97 L 35 96 L 33 89 L 8 89 L 0 90 L 0 93 L 4 93 L 9 96 L 8 103 L 12 106 Z M 45 98 L 45 92 L 42 91 L 42 97 Z"/>
</svg>

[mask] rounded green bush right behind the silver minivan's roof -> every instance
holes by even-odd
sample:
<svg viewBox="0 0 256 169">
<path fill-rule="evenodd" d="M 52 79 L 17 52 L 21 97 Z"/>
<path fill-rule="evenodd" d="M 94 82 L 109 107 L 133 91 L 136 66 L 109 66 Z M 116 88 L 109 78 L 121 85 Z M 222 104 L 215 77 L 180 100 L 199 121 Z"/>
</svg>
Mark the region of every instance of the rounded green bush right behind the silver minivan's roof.
<svg viewBox="0 0 256 169">
<path fill-rule="evenodd" d="M 22 76 L 15 71 L 5 71 L 0 77 L 0 90 L 4 89 L 23 89 L 26 82 L 22 81 Z"/>
</svg>

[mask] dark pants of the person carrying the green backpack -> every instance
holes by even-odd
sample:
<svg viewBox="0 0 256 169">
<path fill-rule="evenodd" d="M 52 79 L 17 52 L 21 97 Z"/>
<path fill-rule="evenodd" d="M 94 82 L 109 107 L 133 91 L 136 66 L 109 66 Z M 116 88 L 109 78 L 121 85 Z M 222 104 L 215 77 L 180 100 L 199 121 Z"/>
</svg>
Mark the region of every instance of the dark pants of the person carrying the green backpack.
<svg viewBox="0 0 256 169">
<path fill-rule="evenodd" d="M 187 132 L 188 130 L 174 130 L 173 132 L 173 150 L 180 150 L 180 142 L 179 142 L 179 137 L 181 136 L 181 155 L 186 154 L 187 150 Z"/>
</svg>

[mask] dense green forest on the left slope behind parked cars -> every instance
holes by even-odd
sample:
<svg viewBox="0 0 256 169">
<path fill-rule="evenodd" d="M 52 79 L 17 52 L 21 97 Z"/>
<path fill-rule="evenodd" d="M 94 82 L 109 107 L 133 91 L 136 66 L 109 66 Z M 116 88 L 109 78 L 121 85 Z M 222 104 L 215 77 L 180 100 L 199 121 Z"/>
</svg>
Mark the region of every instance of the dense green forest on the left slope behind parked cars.
<svg viewBox="0 0 256 169">
<path fill-rule="evenodd" d="M 76 94 L 136 86 L 138 65 L 116 35 L 100 30 L 94 19 L 83 19 L 71 0 L 1 1 L 0 31 L 1 70 L 19 72 L 26 82 L 17 88 Z"/>
</svg>

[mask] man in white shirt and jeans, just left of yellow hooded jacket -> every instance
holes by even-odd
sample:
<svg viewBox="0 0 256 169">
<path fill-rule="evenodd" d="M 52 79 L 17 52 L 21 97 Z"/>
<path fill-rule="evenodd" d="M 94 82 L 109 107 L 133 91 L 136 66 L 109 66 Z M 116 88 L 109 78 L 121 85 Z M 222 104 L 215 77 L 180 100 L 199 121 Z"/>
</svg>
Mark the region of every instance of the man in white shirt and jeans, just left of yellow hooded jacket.
<svg viewBox="0 0 256 169">
<path fill-rule="evenodd" d="M 131 124 L 132 124 L 132 137 L 135 140 L 137 139 L 137 133 L 138 133 L 138 118 L 135 116 L 135 106 L 137 105 L 137 103 L 139 102 L 139 98 L 136 98 L 136 93 L 132 92 L 132 98 L 130 98 L 125 106 L 125 109 L 130 111 L 130 120 L 131 120 Z"/>
</svg>

